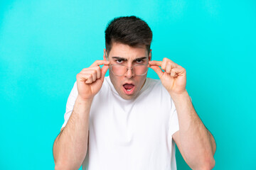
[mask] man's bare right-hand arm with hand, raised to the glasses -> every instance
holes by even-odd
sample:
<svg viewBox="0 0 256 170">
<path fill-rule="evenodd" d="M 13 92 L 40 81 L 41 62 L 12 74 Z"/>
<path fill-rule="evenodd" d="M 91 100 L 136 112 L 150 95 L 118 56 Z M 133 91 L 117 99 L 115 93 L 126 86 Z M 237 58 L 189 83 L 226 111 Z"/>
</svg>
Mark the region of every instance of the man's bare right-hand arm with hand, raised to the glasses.
<svg viewBox="0 0 256 170">
<path fill-rule="evenodd" d="M 215 165 L 215 141 L 198 118 L 188 96 L 186 69 L 168 58 L 163 61 L 149 61 L 149 64 L 158 74 L 176 106 L 180 130 L 173 138 L 183 158 L 192 169 L 212 169 Z"/>
</svg>

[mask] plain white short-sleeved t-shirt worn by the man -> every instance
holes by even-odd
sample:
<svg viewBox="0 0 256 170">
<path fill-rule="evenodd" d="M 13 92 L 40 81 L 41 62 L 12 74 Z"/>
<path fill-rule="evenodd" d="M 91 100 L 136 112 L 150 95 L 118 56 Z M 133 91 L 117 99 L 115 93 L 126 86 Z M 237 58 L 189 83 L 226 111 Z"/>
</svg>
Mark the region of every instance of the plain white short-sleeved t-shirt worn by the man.
<svg viewBox="0 0 256 170">
<path fill-rule="evenodd" d="M 75 83 L 63 127 L 77 96 Z M 176 170 L 172 135 L 179 129 L 178 116 L 160 80 L 147 78 L 137 98 L 124 100 L 105 77 L 92 101 L 89 129 L 83 170 Z"/>
</svg>

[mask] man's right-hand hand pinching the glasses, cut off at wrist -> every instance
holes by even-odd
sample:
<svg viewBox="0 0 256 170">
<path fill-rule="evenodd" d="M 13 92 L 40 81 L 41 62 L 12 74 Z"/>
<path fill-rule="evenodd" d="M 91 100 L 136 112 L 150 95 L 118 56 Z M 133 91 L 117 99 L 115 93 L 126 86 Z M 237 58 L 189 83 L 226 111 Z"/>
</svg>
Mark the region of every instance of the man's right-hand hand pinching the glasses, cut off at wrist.
<svg viewBox="0 0 256 170">
<path fill-rule="evenodd" d="M 162 62 L 149 61 L 149 67 L 158 74 L 169 94 L 183 94 L 186 91 L 186 69 L 183 67 L 168 58 L 164 58 Z"/>
</svg>

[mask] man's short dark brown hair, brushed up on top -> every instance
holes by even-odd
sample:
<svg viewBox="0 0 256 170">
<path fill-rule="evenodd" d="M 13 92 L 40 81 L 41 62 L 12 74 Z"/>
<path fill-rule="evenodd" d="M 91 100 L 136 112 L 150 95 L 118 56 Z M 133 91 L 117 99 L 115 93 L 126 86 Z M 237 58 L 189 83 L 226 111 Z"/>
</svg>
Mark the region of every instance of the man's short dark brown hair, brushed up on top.
<svg viewBox="0 0 256 170">
<path fill-rule="evenodd" d="M 105 30 L 105 45 L 109 54 L 113 42 L 121 42 L 131 47 L 146 45 L 148 53 L 152 41 L 152 31 L 145 21 L 136 16 L 122 16 L 112 19 Z"/>
</svg>

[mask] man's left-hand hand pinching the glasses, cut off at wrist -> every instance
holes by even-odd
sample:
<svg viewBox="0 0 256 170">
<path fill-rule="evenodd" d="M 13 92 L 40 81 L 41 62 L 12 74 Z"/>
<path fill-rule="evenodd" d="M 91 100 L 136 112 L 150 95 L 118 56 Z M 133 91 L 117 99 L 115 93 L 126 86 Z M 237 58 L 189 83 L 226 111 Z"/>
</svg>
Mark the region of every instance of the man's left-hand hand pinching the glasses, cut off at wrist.
<svg viewBox="0 0 256 170">
<path fill-rule="evenodd" d="M 102 69 L 100 65 L 105 64 Z M 92 99 L 102 87 L 110 62 L 97 60 L 90 67 L 77 74 L 78 97 L 82 100 Z"/>
</svg>

